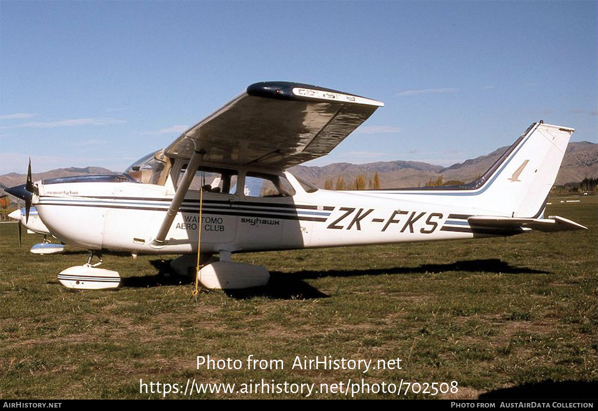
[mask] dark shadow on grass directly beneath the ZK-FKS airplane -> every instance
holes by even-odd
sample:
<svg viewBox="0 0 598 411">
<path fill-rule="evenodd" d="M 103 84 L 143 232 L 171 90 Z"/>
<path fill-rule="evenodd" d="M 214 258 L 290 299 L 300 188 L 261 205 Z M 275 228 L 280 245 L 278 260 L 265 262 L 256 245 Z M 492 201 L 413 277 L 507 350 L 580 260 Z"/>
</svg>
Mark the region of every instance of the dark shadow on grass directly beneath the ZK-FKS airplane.
<svg viewBox="0 0 598 411">
<path fill-rule="evenodd" d="M 140 277 L 124 277 L 122 287 L 160 287 L 193 284 L 194 278 L 176 275 L 170 268 L 169 260 L 151 260 L 157 274 Z M 354 277 L 358 275 L 388 275 L 388 274 L 435 274 L 450 271 L 492 272 L 504 274 L 549 274 L 547 271 L 526 267 L 512 266 L 499 259 L 465 260 L 447 264 L 423 264 L 419 267 L 395 267 L 361 270 L 303 270 L 295 272 L 270 272 L 270 281 L 264 287 L 254 287 L 242 290 L 224 290 L 236 299 L 251 297 L 267 297 L 271 299 L 315 299 L 329 297 L 304 280 L 324 277 Z"/>
</svg>

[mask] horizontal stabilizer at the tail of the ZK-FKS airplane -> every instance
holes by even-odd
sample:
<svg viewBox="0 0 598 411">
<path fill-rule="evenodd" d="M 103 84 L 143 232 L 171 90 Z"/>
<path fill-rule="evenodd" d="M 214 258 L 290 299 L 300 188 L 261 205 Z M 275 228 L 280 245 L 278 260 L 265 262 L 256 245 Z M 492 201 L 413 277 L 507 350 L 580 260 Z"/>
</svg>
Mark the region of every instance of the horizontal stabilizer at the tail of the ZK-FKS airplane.
<svg viewBox="0 0 598 411">
<path fill-rule="evenodd" d="M 559 216 L 549 216 L 547 219 L 472 216 L 467 221 L 474 232 L 521 232 L 527 231 L 526 229 L 543 232 L 587 230 L 587 227 Z"/>
</svg>

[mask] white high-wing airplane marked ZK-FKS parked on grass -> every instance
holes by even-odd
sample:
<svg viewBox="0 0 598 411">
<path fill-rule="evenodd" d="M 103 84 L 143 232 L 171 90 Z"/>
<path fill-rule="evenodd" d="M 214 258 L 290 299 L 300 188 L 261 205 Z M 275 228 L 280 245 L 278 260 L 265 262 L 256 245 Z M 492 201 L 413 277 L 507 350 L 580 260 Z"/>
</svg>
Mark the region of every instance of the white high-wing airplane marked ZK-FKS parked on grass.
<svg viewBox="0 0 598 411">
<path fill-rule="evenodd" d="M 29 167 L 28 183 L 7 191 L 34 204 L 54 237 L 90 250 L 86 264 L 58 276 L 73 289 L 118 287 L 117 271 L 97 268 L 104 251 L 184 254 L 173 266 L 195 269 L 197 292 L 267 283 L 264 266 L 231 262 L 232 253 L 587 229 L 544 217 L 574 130 L 543 121 L 463 185 L 329 191 L 285 171 L 328 154 L 383 105 L 314 85 L 255 83 L 124 173 L 33 183 Z"/>
</svg>

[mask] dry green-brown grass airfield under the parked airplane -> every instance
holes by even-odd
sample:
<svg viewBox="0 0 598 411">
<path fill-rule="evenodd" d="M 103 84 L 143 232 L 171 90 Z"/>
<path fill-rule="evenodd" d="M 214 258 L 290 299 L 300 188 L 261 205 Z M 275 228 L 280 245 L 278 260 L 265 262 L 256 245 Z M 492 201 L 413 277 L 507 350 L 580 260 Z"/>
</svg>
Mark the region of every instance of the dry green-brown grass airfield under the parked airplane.
<svg viewBox="0 0 598 411">
<path fill-rule="evenodd" d="M 581 200 L 560 203 L 560 200 Z M 86 251 L 34 256 L 41 235 L 0 225 L 0 397 L 162 398 L 139 380 L 185 384 L 457 381 L 447 394 L 399 398 L 584 398 L 598 388 L 596 197 L 551 198 L 546 215 L 589 231 L 395 246 L 238 254 L 270 284 L 202 292 L 163 274 L 174 256 L 106 255 L 117 290 L 74 291 L 56 275 Z M 284 369 L 246 367 L 249 355 Z M 197 369 L 196 357 L 239 359 Z M 291 369 L 301 359 L 392 360 L 402 369 Z M 166 398 L 184 395 L 167 394 Z M 187 396 L 189 397 L 189 396 Z M 191 398 L 301 398 L 193 394 Z M 344 398 L 318 394 L 310 398 Z M 347 397 L 350 397 L 350 392 Z M 360 393 L 356 398 L 396 398 Z"/>
</svg>

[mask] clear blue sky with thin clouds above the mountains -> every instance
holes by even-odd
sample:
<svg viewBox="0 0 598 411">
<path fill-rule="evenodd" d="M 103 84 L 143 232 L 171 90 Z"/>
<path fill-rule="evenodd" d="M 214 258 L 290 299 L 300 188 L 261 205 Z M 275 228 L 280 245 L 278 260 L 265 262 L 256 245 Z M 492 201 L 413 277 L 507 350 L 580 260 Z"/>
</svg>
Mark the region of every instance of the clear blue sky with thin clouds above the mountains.
<svg viewBox="0 0 598 411">
<path fill-rule="evenodd" d="M 450 165 L 539 119 L 596 142 L 597 5 L 2 0 L 0 174 L 123 170 L 269 80 L 385 102 L 307 165 Z"/>
</svg>

